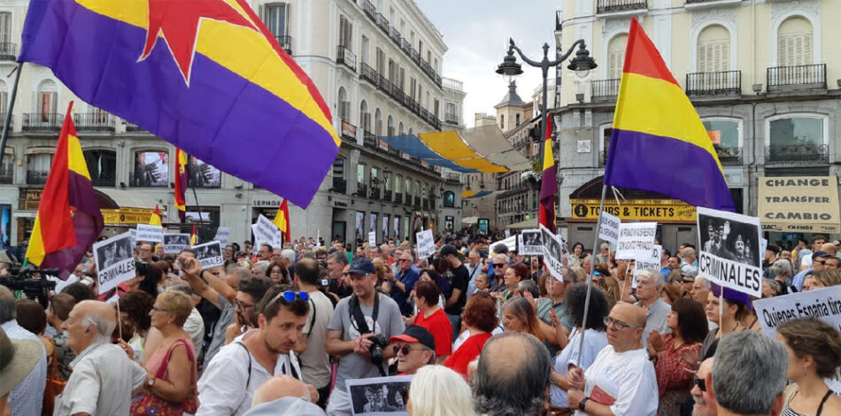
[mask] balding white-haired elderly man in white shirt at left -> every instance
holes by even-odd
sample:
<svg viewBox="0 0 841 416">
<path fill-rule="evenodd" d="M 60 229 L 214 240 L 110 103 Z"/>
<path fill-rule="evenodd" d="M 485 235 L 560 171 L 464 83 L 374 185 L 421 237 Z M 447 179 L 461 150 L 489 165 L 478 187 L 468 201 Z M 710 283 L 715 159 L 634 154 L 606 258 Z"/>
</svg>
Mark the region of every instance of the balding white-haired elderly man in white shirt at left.
<svg viewBox="0 0 841 416">
<path fill-rule="evenodd" d="M 56 397 L 54 415 L 128 414 L 128 397 L 144 382 L 153 382 L 154 374 L 111 343 L 114 327 L 117 312 L 110 304 L 85 300 L 73 307 L 62 329 L 76 358 L 73 374 Z"/>
</svg>

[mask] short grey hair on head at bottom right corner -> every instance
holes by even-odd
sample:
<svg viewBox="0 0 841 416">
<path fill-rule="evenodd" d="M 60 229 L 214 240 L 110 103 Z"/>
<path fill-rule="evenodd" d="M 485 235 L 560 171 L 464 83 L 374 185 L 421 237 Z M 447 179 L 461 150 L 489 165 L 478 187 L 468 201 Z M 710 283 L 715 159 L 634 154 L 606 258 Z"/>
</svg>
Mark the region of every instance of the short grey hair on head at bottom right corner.
<svg viewBox="0 0 841 416">
<path fill-rule="evenodd" d="M 768 414 L 785 390 L 788 364 L 783 343 L 768 336 L 740 331 L 722 337 L 713 361 L 718 404 L 738 414 Z"/>
</svg>

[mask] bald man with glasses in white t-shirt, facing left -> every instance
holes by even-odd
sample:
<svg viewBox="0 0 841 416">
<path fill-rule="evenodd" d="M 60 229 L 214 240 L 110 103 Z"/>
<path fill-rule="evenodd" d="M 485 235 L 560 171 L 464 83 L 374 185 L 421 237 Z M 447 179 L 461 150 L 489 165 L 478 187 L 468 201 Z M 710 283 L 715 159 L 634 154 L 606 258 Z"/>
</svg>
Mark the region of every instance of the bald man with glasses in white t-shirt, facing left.
<svg viewBox="0 0 841 416">
<path fill-rule="evenodd" d="M 569 373 L 569 406 L 576 415 L 633 414 L 655 416 L 658 390 L 654 365 L 642 343 L 645 311 L 634 305 L 613 306 L 605 319 L 607 343 L 582 375 Z"/>
</svg>

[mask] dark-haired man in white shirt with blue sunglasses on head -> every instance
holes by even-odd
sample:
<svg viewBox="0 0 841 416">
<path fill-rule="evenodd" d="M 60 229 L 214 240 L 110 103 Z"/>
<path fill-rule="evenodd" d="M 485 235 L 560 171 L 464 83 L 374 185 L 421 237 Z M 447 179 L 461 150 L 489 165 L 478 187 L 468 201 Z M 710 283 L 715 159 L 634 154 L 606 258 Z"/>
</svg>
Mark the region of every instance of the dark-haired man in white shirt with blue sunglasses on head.
<svg viewBox="0 0 841 416">
<path fill-rule="evenodd" d="M 222 347 L 198 381 L 196 416 L 241 415 L 251 408 L 254 391 L 273 375 L 301 380 L 295 354 L 306 325 L 309 296 L 289 285 L 274 286 L 254 307 L 258 328 Z M 311 391 L 314 388 L 311 389 Z M 312 401 L 316 401 L 312 391 Z"/>
</svg>

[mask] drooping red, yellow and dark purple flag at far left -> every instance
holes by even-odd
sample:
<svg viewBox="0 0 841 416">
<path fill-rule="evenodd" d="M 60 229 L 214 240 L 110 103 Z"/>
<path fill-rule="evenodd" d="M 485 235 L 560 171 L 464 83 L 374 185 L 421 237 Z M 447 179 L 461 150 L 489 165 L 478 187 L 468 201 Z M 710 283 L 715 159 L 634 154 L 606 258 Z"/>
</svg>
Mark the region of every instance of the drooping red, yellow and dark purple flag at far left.
<svg viewBox="0 0 841 416">
<path fill-rule="evenodd" d="M 50 176 L 41 194 L 35 226 L 29 237 L 27 259 L 41 268 L 58 268 L 67 279 L 102 232 L 104 220 L 96 203 L 90 173 L 67 107 L 58 135 Z"/>
</svg>

